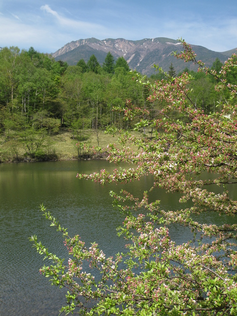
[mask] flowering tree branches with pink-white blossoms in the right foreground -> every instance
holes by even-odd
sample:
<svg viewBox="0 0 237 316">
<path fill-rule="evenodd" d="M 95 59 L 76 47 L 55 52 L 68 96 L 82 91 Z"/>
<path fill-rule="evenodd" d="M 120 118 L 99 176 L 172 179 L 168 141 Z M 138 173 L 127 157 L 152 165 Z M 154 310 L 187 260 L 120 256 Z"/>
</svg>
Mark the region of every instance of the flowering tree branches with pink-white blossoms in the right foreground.
<svg viewBox="0 0 237 316">
<path fill-rule="evenodd" d="M 175 210 L 163 210 L 159 200 L 149 202 L 149 192 L 144 192 L 142 199 L 124 190 L 111 192 L 114 206 L 124 214 L 118 235 L 127 240 L 126 252 L 115 258 L 107 258 L 96 243 L 87 249 L 79 236 L 69 237 L 41 207 L 45 217 L 62 232 L 69 251 L 70 259 L 64 265 L 32 237 L 38 252 L 56 264 L 40 271 L 51 276 L 53 284 L 69 289 L 68 305 L 62 308 L 65 313 L 78 307 L 80 315 L 237 315 L 237 224 L 198 222 L 200 213 L 217 213 L 223 221 L 223 215 L 234 218 L 237 213 L 237 201 L 227 190 L 227 184 L 237 183 L 237 87 L 226 76 L 237 57 L 234 54 L 216 74 L 196 59 L 190 45 L 184 40 L 181 43 L 184 51 L 175 56 L 194 62 L 199 71 L 218 79 L 217 89 L 229 90 L 230 100 L 222 111 L 206 115 L 189 97 L 192 76 L 166 76 L 151 84 L 136 75 L 150 88 L 148 101 L 164 100 L 165 107 L 152 118 L 147 109 L 128 101 L 124 118 L 136 117 L 137 126 L 156 130 L 155 137 L 121 133 L 120 147 L 108 145 L 107 159 L 131 162 L 132 167 L 77 177 L 104 185 L 151 175 L 154 184 L 150 190 L 158 187 L 179 192 L 180 205 Z M 171 115 L 174 111 L 177 117 Z M 216 194 L 214 186 L 222 188 L 221 193 Z M 192 206 L 182 209 L 187 201 Z M 189 227 L 192 240 L 183 244 L 171 240 L 169 227 L 175 223 Z M 87 273 L 82 272 L 85 262 L 89 262 Z M 101 277 L 97 279 L 92 268 Z"/>
</svg>

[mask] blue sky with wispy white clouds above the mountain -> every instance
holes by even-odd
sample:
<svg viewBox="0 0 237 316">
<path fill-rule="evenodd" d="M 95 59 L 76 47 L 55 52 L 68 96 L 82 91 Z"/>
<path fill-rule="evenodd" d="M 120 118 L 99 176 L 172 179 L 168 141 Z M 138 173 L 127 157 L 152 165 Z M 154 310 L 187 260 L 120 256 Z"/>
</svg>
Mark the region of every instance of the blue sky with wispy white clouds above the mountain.
<svg viewBox="0 0 237 316">
<path fill-rule="evenodd" d="M 182 37 L 237 47 L 237 0 L 0 0 L 0 46 L 55 52 L 72 40 Z"/>
</svg>

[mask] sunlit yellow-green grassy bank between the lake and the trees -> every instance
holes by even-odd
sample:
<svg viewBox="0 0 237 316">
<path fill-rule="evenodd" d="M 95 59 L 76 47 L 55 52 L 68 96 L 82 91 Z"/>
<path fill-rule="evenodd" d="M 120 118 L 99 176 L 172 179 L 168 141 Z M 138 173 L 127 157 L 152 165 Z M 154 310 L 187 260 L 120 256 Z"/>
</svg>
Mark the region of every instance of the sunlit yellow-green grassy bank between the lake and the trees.
<svg viewBox="0 0 237 316">
<path fill-rule="evenodd" d="M 39 135 L 28 139 L 15 135 L 0 136 L 0 162 L 17 161 L 43 161 L 43 160 L 73 160 L 83 158 L 104 158 L 103 156 L 91 156 L 89 153 L 82 152 L 76 145 L 78 139 L 73 137 L 71 132 L 61 132 L 57 135 L 44 136 L 42 140 Z M 40 149 L 36 150 L 37 144 L 41 141 Z M 118 136 L 113 137 L 98 131 L 88 130 L 84 134 L 83 142 L 88 146 L 99 146 L 105 148 L 109 143 L 116 143 Z M 83 157 L 81 156 L 83 153 Z"/>
</svg>

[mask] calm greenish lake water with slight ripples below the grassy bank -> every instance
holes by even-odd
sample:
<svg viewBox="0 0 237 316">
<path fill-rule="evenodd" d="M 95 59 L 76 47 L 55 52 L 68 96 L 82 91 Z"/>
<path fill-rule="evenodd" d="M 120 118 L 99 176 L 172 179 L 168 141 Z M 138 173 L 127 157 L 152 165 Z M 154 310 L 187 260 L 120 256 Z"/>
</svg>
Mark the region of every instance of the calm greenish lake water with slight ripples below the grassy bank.
<svg viewBox="0 0 237 316">
<path fill-rule="evenodd" d="M 56 316 L 65 302 L 64 290 L 51 286 L 40 275 L 43 257 L 28 239 L 37 235 L 50 252 L 66 257 L 61 235 L 42 217 L 41 203 L 71 236 L 79 234 L 87 245 L 96 241 L 107 255 L 123 250 L 125 242 L 116 235 L 123 217 L 112 207 L 109 192 L 124 186 L 101 187 L 76 178 L 78 172 L 92 173 L 105 167 L 112 170 L 114 166 L 104 160 L 0 164 L 1 316 Z M 151 177 L 144 177 L 125 189 L 142 196 L 152 183 Z M 152 198 L 161 198 L 161 208 L 172 209 L 179 196 L 157 190 Z M 220 220 L 218 215 L 205 215 L 205 222 Z M 190 237 L 189 230 L 178 225 L 171 228 L 170 235 L 177 242 Z"/>
</svg>

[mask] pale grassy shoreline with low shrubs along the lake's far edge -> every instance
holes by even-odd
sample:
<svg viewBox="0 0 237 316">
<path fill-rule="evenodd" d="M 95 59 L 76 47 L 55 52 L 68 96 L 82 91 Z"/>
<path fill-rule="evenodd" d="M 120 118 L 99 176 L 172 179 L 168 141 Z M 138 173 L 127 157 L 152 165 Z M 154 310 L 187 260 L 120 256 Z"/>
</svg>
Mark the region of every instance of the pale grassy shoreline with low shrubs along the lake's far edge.
<svg viewBox="0 0 237 316">
<path fill-rule="evenodd" d="M 140 133 L 132 132 L 133 135 L 140 137 Z M 29 152 L 26 144 L 19 140 L 8 140 L 0 137 L 0 163 L 18 163 L 18 162 L 43 162 L 43 161 L 63 161 L 63 160 L 88 160 L 88 159 L 106 159 L 108 154 L 106 148 L 108 144 L 118 145 L 118 135 L 105 134 L 99 131 L 99 147 L 103 152 L 95 152 L 98 146 L 98 139 L 95 133 L 87 131 L 88 139 L 84 141 L 86 148 L 77 146 L 78 140 L 72 138 L 68 131 L 52 135 L 45 139 L 40 150 L 36 152 L 33 148 Z M 92 150 L 90 150 L 90 148 Z"/>
</svg>

